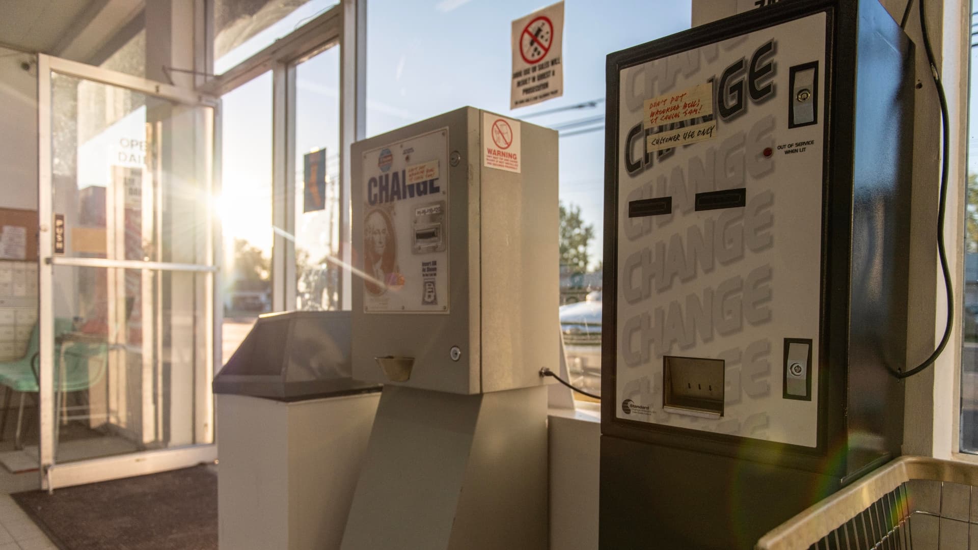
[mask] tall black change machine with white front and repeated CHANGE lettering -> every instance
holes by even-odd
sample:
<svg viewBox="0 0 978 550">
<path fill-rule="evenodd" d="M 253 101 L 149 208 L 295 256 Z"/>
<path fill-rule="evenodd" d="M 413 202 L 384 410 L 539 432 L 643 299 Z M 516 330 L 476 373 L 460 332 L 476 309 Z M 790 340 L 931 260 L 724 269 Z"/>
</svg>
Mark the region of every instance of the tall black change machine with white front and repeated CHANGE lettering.
<svg viewBox="0 0 978 550">
<path fill-rule="evenodd" d="M 752 548 L 900 453 L 912 59 L 877 0 L 608 56 L 601 548 Z"/>
</svg>

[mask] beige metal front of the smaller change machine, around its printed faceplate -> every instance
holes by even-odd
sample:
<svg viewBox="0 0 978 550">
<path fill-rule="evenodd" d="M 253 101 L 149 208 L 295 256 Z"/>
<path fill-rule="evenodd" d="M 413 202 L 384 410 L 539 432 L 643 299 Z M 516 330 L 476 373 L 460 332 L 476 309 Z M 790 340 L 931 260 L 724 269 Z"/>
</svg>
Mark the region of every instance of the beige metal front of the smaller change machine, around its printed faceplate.
<svg viewBox="0 0 978 550">
<path fill-rule="evenodd" d="M 364 242 L 363 154 L 391 143 L 417 136 L 439 128 L 448 128 L 448 150 L 458 151 L 463 159 L 477 152 L 476 131 L 469 131 L 476 124 L 475 110 L 463 109 L 438 115 L 427 120 L 379 135 L 352 148 L 351 168 L 353 183 L 352 231 L 354 258 L 362 258 L 359 250 Z M 474 126 L 477 129 L 477 126 Z M 359 380 L 383 384 L 399 384 L 427 390 L 454 393 L 479 391 L 478 326 L 471 326 L 474 316 L 469 290 L 478 289 L 478 224 L 469 223 L 472 205 L 469 197 L 477 196 L 479 171 L 469 162 L 456 166 L 441 166 L 442 185 L 449 186 L 448 193 L 448 248 L 449 302 L 448 314 L 434 313 L 364 313 L 363 278 L 354 275 L 350 294 L 353 300 L 353 376 Z M 447 177 L 446 177 L 447 176 Z M 477 212 L 477 204 L 476 204 Z M 477 217 L 475 218 L 477 220 Z M 410 238 L 406 243 L 411 247 Z M 471 257 L 474 253 L 474 258 Z M 355 267 L 357 264 L 354 259 Z M 477 295 L 476 295 L 477 296 Z M 472 338 L 474 333 L 475 338 Z M 452 360 L 451 347 L 458 345 L 462 355 Z M 375 357 L 413 357 L 411 378 L 404 382 L 392 382 L 382 372 Z"/>
</svg>

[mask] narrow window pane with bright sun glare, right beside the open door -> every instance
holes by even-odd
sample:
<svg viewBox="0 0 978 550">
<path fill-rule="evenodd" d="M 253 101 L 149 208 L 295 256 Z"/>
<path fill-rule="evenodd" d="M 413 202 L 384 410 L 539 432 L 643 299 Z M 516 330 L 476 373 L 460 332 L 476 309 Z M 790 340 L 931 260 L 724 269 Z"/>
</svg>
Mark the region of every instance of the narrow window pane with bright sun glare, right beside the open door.
<svg viewBox="0 0 978 550">
<path fill-rule="evenodd" d="M 272 310 L 272 73 L 221 97 L 223 361 Z"/>
</svg>

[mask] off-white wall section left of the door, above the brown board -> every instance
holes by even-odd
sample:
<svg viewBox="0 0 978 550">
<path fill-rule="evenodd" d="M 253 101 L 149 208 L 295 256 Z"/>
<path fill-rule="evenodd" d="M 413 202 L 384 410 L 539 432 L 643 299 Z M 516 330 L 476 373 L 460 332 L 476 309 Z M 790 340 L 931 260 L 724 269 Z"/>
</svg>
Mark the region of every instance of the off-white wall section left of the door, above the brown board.
<svg viewBox="0 0 978 550">
<path fill-rule="evenodd" d="M 30 69 L 21 68 L 29 63 Z M 37 66 L 0 48 L 0 206 L 37 209 Z"/>
</svg>

